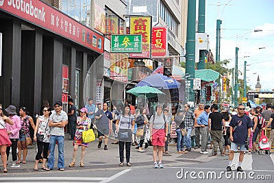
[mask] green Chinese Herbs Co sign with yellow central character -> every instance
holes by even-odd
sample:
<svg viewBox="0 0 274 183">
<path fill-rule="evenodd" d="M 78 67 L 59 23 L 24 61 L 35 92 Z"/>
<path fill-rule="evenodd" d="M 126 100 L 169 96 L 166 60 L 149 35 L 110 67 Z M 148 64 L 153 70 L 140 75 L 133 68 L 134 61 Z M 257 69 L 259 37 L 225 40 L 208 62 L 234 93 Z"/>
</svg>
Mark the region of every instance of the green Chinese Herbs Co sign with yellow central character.
<svg viewBox="0 0 274 183">
<path fill-rule="evenodd" d="M 112 53 L 142 53 L 142 35 L 112 34 Z"/>
</svg>

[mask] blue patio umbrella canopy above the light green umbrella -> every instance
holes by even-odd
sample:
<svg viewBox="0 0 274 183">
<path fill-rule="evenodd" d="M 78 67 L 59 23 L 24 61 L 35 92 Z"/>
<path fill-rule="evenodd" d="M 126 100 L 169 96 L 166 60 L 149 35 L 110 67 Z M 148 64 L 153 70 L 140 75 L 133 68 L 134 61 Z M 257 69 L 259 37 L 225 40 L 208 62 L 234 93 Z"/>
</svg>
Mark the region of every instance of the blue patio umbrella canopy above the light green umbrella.
<svg viewBox="0 0 274 183">
<path fill-rule="evenodd" d="M 179 88 L 181 83 L 177 82 L 171 77 L 157 73 L 145 77 L 138 84 L 136 84 L 136 86 L 152 86 L 158 89 L 172 89 Z"/>
</svg>

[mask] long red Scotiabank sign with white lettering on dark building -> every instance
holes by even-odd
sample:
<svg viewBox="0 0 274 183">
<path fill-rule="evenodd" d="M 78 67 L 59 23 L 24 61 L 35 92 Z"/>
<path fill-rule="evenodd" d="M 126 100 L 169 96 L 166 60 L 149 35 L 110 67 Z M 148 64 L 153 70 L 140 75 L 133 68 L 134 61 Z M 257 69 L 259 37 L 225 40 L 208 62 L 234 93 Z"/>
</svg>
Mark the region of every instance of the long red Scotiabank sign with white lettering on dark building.
<svg viewBox="0 0 274 183">
<path fill-rule="evenodd" d="M 0 0 L 0 10 L 103 53 L 103 36 L 39 0 Z"/>
</svg>

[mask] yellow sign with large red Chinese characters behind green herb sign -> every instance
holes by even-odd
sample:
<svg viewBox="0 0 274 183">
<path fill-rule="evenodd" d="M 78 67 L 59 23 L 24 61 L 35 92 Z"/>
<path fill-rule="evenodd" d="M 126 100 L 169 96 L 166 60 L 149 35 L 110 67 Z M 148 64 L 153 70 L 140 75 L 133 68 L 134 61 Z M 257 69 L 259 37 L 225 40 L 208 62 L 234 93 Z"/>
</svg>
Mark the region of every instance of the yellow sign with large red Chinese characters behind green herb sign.
<svg viewBox="0 0 274 183">
<path fill-rule="evenodd" d="M 130 34 L 142 35 L 142 53 L 130 53 L 130 58 L 151 58 L 151 16 L 130 16 Z"/>
</svg>

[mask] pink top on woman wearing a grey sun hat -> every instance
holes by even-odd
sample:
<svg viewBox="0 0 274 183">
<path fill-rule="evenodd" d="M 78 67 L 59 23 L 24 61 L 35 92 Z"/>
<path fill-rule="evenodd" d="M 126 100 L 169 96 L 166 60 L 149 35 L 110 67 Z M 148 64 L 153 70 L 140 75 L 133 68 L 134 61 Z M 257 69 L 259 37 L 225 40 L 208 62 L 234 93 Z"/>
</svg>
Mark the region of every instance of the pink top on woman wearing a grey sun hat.
<svg viewBox="0 0 274 183">
<path fill-rule="evenodd" d="M 9 123 L 5 124 L 5 128 L 7 132 L 12 132 L 9 135 L 9 138 L 19 138 L 19 130 L 21 129 L 21 119 L 17 115 L 9 116 L 9 118 L 13 121 L 13 125 Z"/>
</svg>

